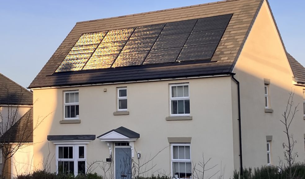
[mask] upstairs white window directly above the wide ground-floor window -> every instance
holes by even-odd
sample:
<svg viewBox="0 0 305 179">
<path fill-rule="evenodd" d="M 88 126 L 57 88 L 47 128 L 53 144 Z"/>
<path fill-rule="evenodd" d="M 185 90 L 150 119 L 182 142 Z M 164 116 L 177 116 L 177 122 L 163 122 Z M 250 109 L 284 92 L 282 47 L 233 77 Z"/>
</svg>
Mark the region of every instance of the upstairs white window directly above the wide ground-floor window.
<svg viewBox="0 0 305 179">
<path fill-rule="evenodd" d="M 64 119 L 79 119 L 78 91 L 64 92 Z"/>
</svg>

